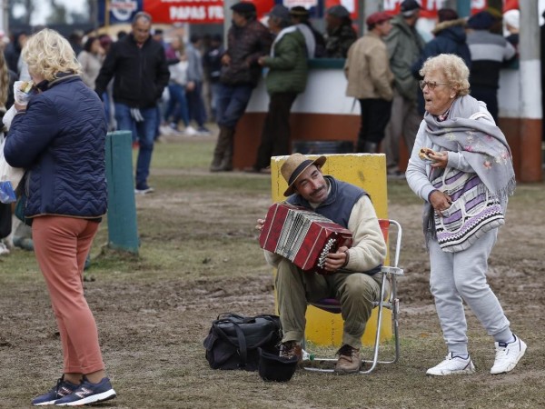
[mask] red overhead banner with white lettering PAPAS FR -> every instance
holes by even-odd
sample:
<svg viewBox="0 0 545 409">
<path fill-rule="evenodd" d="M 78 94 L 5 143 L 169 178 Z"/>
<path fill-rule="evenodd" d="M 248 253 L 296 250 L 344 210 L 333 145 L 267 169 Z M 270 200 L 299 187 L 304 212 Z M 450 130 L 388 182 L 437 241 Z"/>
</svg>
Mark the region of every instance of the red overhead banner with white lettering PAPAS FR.
<svg viewBox="0 0 545 409">
<path fill-rule="evenodd" d="M 144 0 L 154 23 L 223 23 L 223 0 Z"/>
</svg>

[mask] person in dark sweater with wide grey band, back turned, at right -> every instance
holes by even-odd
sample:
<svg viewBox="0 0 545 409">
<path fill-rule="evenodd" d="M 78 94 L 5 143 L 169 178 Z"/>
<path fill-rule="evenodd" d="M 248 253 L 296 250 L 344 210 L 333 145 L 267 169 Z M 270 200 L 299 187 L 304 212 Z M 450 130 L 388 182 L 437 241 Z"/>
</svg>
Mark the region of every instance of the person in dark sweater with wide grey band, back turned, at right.
<svg viewBox="0 0 545 409">
<path fill-rule="evenodd" d="M 486 104 L 498 124 L 498 88 L 500 69 L 517 52 L 502 35 L 490 33 L 496 18 L 488 11 L 472 15 L 468 20 L 468 46 L 471 53 L 471 96 Z"/>
</svg>

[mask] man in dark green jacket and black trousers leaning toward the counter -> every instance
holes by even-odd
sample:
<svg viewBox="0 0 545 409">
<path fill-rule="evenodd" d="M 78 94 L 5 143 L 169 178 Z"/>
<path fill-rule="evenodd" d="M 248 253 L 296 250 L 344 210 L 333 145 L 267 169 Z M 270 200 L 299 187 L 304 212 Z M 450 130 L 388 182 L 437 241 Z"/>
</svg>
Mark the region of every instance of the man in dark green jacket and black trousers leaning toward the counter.
<svg viewBox="0 0 545 409">
<path fill-rule="evenodd" d="M 290 11 L 283 5 L 275 5 L 269 13 L 274 42 L 271 55 L 261 56 L 258 63 L 267 68 L 265 85 L 271 99 L 255 165 L 245 169 L 247 172 L 266 172 L 271 156 L 290 153 L 290 111 L 306 87 L 309 71 L 304 37 L 291 20 Z"/>
</svg>

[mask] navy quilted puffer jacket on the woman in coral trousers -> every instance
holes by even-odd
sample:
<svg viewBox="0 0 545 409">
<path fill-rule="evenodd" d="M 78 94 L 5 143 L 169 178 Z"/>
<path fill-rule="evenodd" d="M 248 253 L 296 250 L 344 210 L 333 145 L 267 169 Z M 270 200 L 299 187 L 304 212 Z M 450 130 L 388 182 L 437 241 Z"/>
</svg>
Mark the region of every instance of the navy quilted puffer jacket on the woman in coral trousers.
<svg viewBox="0 0 545 409">
<path fill-rule="evenodd" d="M 107 208 L 103 104 L 79 75 L 40 88 L 15 115 L 4 148 L 9 165 L 27 170 L 25 216 L 100 217 Z"/>
</svg>

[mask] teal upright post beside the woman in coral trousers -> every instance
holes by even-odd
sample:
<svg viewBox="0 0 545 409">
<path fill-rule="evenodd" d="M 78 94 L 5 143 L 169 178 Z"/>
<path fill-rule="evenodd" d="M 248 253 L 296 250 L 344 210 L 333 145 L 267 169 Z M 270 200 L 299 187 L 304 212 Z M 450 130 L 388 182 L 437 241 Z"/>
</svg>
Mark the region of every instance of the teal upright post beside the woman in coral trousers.
<svg viewBox="0 0 545 409">
<path fill-rule="evenodd" d="M 138 254 L 138 228 L 133 186 L 133 153 L 130 131 L 106 135 L 108 182 L 108 247 Z"/>
</svg>

